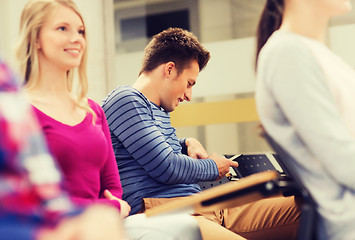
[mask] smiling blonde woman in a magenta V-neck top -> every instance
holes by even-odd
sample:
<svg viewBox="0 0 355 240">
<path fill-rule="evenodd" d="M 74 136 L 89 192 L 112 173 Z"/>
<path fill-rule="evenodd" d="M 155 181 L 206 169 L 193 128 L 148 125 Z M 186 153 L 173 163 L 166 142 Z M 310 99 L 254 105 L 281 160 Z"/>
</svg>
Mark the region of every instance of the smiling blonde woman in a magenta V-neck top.
<svg viewBox="0 0 355 240">
<path fill-rule="evenodd" d="M 101 107 L 86 97 L 85 24 L 70 0 L 30 0 L 21 15 L 17 58 L 25 92 L 78 204 L 99 202 L 120 209 L 122 187 Z M 78 89 L 73 87 L 74 70 Z"/>
</svg>

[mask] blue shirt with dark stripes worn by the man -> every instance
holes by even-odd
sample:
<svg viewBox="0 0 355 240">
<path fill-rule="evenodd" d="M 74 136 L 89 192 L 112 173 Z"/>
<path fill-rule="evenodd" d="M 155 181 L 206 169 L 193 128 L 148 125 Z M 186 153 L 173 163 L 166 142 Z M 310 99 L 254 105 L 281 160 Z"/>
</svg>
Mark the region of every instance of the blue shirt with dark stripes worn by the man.
<svg viewBox="0 0 355 240">
<path fill-rule="evenodd" d="M 218 177 L 213 160 L 181 153 L 169 113 L 136 89 L 118 87 L 102 107 L 131 214 L 139 211 L 143 198 L 188 196 L 201 191 L 196 182 Z"/>
</svg>

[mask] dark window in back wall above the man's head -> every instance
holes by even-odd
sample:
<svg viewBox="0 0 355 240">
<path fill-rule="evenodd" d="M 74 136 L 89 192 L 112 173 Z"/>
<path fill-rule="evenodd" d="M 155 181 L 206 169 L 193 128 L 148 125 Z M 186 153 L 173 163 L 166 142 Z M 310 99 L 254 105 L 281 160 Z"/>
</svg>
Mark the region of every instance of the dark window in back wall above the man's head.
<svg viewBox="0 0 355 240">
<path fill-rule="evenodd" d="M 141 51 L 153 35 L 169 27 L 180 27 L 198 36 L 197 6 L 197 0 L 116 0 L 116 51 Z"/>
</svg>

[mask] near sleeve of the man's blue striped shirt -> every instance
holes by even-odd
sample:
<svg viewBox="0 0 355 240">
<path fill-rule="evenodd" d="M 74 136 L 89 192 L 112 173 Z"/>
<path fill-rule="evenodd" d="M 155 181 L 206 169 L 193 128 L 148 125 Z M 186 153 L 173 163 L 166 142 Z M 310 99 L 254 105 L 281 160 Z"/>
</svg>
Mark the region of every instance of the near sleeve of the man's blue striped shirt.
<svg viewBox="0 0 355 240">
<path fill-rule="evenodd" d="M 155 180 L 165 184 L 212 181 L 218 169 L 211 159 L 176 153 L 155 125 L 149 103 L 129 91 L 112 94 L 104 111 L 113 137 Z"/>
</svg>

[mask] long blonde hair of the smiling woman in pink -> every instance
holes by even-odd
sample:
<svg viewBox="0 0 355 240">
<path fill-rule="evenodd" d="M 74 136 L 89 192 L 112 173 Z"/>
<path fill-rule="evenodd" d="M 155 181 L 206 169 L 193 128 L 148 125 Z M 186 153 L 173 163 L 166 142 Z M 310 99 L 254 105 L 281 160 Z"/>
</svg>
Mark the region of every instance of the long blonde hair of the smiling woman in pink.
<svg viewBox="0 0 355 240">
<path fill-rule="evenodd" d="M 25 5 L 20 19 L 19 39 L 16 47 L 16 58 L 19 62 L 20 73 L 27 89 L 32 89 L 38 84 L 39 80 L 39 63 L 36 41 L 42 26 L 47 21 L 48 17 L 63 5 L 71 8 L 83 22 L 85 23 L 78 7 L 72 0 L 29 0 Z M 86 30 L 84 34 L 86 39 Z M 77 105 L 87 112 L 93 114 L 94 111 L 90 108 L 86 100 L 88 92 L 88 79 L 86 75 L 87 51 L 84 51 L 81 63 L 78 67 L 79 84 L 77 88 Z M 68 91 L 73 91 L 74 84 L 74 69 L 67 72 Z"/>
</svg>

